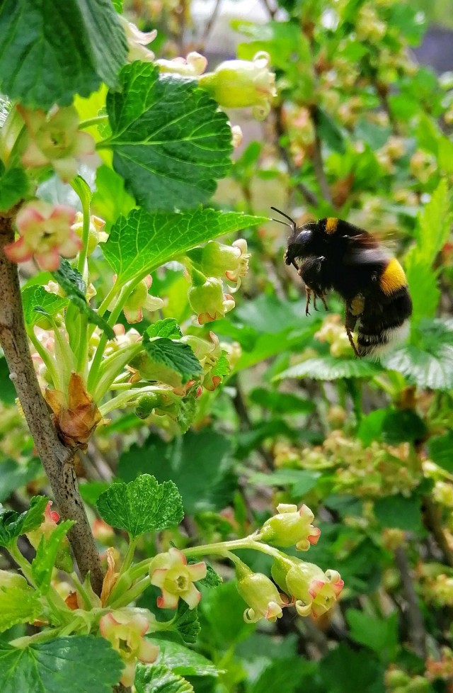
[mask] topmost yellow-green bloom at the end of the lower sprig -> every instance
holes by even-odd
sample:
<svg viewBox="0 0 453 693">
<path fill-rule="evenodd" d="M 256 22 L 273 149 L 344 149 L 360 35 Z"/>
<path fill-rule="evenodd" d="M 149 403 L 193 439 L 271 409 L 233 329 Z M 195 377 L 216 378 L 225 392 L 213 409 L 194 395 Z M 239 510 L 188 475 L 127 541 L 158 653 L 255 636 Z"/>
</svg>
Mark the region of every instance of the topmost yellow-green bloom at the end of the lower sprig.
<svg viewBox="0 0 453 693">
<path fill-rule="evenodd" d="M 274 546 L 296 546 L 297 551 L 308 551 L 310 546 L 318 543 L 321 529 L 311 522 L 314 514 L 309 507 L 301 505 L 277 505 L 277 514 L 263 524 L 258 534 L 259 541 L 266 541 Z"/>
</svg>

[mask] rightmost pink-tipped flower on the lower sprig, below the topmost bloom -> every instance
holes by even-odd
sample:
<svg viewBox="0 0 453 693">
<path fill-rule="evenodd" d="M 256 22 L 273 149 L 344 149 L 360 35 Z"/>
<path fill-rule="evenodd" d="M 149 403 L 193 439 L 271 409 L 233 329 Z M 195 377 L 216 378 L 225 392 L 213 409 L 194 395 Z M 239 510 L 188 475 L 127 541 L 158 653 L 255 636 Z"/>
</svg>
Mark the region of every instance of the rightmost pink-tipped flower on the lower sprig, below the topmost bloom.
<svg viewBox="0 0 453 693">
<path fill-rule="evenodd" d="M 336 570 L 323 573 L 318 565 L 292 556 L 275 558 L 272 575 L 294 597 L 299 616 L 311 614 L 315 619 L 333 607 L 344 585 Z"/>
</svg>

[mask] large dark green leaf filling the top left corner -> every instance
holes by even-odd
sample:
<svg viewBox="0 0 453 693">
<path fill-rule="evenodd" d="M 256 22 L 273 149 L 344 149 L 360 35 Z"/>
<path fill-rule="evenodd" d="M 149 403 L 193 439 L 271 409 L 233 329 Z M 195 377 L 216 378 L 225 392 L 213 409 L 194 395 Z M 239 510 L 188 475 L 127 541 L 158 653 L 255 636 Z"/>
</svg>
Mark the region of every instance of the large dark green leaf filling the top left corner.
<svg viewBox="0 0 453 693">
<path fill-rule="evenodd" d="M 4 0 L 0 47 L 2 93 L 45 111 L 101 82 L 115 88 L 128 50 L 108 0 Z"/>
</svg>

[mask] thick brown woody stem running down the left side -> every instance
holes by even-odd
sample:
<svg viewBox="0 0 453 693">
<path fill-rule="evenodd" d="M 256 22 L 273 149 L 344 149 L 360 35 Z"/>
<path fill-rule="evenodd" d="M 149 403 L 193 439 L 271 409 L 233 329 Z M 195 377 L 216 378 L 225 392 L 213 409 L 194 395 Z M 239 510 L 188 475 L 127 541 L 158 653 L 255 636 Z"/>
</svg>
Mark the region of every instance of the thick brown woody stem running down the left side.
<svg viewBox="0 0 453 693">
<path fill-rule="evenodd" d="M 93 589 L 101 594 L 103 571 L 77 487 L 74 453 L 59 440 L 42 397 L 28 349 L 17 265 L 4 253 L 14 240 L 14 215 L 14 210 L 0 215 L 0 344 L 59 512 L 76 521 L 68 536 L 81 575 L 90 572 Z"/>
</svg>

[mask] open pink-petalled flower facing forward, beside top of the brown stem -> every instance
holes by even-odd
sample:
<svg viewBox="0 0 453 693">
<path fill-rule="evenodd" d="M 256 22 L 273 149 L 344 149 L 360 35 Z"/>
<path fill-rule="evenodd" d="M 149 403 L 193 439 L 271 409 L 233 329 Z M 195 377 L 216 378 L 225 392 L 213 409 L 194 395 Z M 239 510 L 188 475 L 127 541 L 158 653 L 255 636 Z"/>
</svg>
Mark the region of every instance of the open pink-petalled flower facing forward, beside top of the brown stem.
<svg viewBox="0 0 453 693">
<path fill-rule="evenodd" d="M 24 205 L 16 217 L 21 236 L 5 246 L 11 262 L 25 262 L 35 257 L 41 269 L 50 272 L 59 267 L 62 257 L 74 257 L 82 247 L 76 232 L 71 229 L 75 210 L 66 205 L 51 205 L 35 200 Z"/>
</svg>

